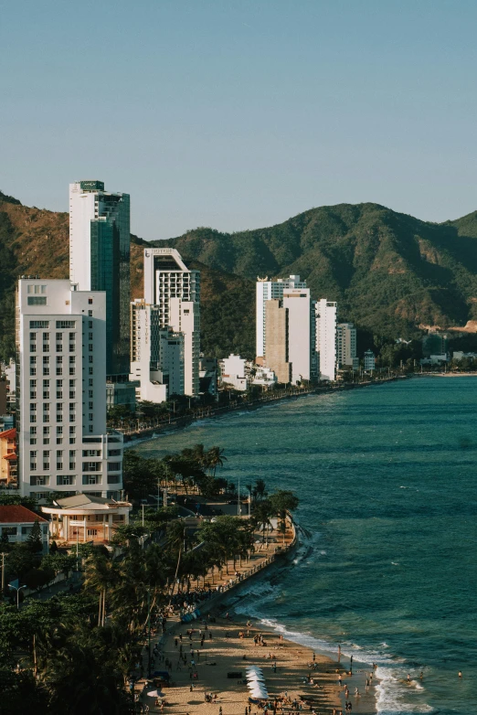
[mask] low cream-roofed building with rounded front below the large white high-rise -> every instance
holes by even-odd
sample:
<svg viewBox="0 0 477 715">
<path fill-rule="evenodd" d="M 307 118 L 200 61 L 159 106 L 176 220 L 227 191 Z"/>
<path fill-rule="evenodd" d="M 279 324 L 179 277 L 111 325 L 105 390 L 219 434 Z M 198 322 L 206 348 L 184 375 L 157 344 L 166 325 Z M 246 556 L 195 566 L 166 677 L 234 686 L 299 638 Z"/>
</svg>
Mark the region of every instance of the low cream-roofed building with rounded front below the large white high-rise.
<svg viewBox="0 0 477 715">
<path fill-rule="evenodd" d="M 52 506 L 41 507 L 51 518 L 51 538 L 66 543 L 111 541 L 118 527 L 129 524 L 131 509 L 127 501 L 86 494 L 56 499 Z"/>
</svg>

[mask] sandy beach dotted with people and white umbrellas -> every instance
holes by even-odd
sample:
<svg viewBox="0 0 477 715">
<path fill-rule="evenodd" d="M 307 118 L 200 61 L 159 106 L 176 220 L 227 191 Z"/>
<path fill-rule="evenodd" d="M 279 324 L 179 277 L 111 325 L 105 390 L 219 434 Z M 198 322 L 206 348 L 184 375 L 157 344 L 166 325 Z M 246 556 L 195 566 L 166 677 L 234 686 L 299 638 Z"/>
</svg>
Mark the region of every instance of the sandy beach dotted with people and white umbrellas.
<svg viewBox="0 0 477 715">
<path fill-rule="evenodd" d="M 285 692 L 292 700 L 302 696 L 308 702 L 303 705 L 302 712 L 305 713 L 312 710 L 316 713 L 331 713 L 334 709 L 336 712 L 345 712 L 345 692 L 338 684 L 339 670 L 343 683 L 347 683 L 350 689 L 349 699 L 353 703 L 353 712 L 362 715 L 376 712 L 373 688 L 366 692 L 365 670 L 357 667 L 351 678 L 344 675 L 345 668 L 349 669 L 349 658 L 342 658 L 342 663 L 338 665 L 330 657 L 317 653 L 315 658 L 318 665 L 313 671 L 313 668 L 309 667 L 309 664 L 313 664 L 313 651 L 309 648 L 281 639 L 279 634 L 264 629 L 257 623 L 252 623 L 248 628 L 247 616 L 243 614 L 230 612 L 231 620 L 228 620 L 218 617 L 218 613 L 217 608 L 211 612 L 211 616 L 216 618 L 215 623 L 207 620 L 207 637 L 203 648 L 200 648 L 198 632 L 198 629 L 202 629 L 202 633 L 205 632 L 205 626 L 201 622 L 195 622 L 192 640 L 187 635 L 187 630 L 192 626 L 168 622 L 167 632 L 161 641 L 162 656 L 160 660 L 156 659 L 154 666 L 156 670 L 168 669 L 174 683 L 169 688 L 163 688 L 167 703 L 164 706 L 164 715 L 218 715 L 219 708 L 222 708 L 223 715 L 245 715 L 246 706 L 249 705 L 245 668 L 249 665 L 257 665 L 263 669 L 270 699 Z M 240 631 L 244 633 L 243 638 L 238 635 Z M 265 646 L 254 644 L 253 636 L 260 633 Z M 182 634 L 182 642 L 178 639 L 179 634 Z M 178 639 L 177 646 L 175 638 Z M 186 655 L 186 665 L 179 661 L 181 643 L 183 654 Z M 194 667 L 190 666 L 191 646 L 194 650 Z M 200 648 L 198 655 L 197 648 Z M 273 659 L 270 656 L 276 657 L 276 673 L 272 670 Z M 172 662 L 172 667 L 166 668 L 164 659 Z M 191 678 L 194 672 L 197 674 L 196 679 Z M 241 673 L 242 677 L 228 678 L 229 672 Z M 309 674 L 312 675 L 314 686 L 304 682 Z M 194 684 L 193 691 L 190 689 L 191 684 Z M 359 688 L 360 697 L 355 697 L 355 687 Z M 142 702 L 147 703 L 151 712 L 160 711 L 159 707 L 154 706 L 154 698 L 145 695 L 150 689 L 154 687 L 144 688 Z M 212 703 L 206 702 L 206 692 L 217 694 L 217 699 Z M 283 712 L 289 711 L 292 711 L 292 706 L 284 706 Z M 252 715 L 258 712 L 258 706 L 251 704 Z"/>
</svg>

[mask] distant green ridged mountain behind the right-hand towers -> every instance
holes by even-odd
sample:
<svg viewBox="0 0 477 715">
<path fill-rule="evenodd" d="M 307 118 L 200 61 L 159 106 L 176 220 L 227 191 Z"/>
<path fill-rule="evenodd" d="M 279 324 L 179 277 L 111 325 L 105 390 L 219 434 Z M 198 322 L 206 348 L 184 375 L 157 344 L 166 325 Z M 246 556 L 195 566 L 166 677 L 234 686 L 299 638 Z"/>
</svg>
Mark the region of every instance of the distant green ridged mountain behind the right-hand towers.
<svg viewBox="0 0 477 715">
<path fill-rule="evenodd" d="M 299 273 L 314 297 L 338 302 L 341 320 L 382 336 L 477 318 L 477 212 L 435 224 L 378 204 L 340 204 L 267 229 L 195 229 L 165 245 L 249 280 Z"/>
</svg>

